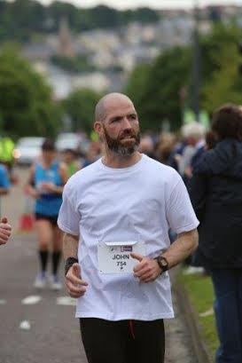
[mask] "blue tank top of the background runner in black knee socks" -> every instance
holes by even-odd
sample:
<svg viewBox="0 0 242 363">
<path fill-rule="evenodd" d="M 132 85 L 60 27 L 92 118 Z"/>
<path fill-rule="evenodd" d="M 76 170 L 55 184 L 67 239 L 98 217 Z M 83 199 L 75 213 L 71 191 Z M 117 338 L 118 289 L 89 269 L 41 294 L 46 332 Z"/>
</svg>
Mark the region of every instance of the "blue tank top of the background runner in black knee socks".
<svg viewBox="0 0 242 363">
<path fill-rule="evenodd" d="M 50 168 L 44 169 L 41 163 L 35 165 L 35 188 L 40 190 L 40 198 L 35 201 L 35 213 L 44 216 L 58 216 L 62 203 L 62 195 L 41 191 L 43 182 L 61 186 L 63 181 L 59 175 L 59 162 L 53 162 Z"/>
</svg>

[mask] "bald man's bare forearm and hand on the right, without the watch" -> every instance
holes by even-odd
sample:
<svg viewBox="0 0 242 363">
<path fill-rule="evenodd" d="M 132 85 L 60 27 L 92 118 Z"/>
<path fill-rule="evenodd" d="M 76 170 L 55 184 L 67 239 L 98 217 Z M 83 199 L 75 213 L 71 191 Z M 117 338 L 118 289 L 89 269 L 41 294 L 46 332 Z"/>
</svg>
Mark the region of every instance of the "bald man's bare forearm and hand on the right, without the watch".
<svg viewBox="0 0 242 363">
<path fill-rule="evenodd" d="M 191 255 L 191 252 L 197 248 L 198 242 L 199 234 L 197 229 L 180 233 L 177 240 L 171 244 L 169 249 L 162 253 L 162 256 L 168 260 L 168 268 L 176 266 L 176 264 L 179 264 L 187 256 Z M 160 275 L 161 269 L 155 259 L 136 253 L 131 253 L 131 256 L 139 262 L 134 267 L 134 275 L 141 282 L 151 282 Z"/>
</svg>

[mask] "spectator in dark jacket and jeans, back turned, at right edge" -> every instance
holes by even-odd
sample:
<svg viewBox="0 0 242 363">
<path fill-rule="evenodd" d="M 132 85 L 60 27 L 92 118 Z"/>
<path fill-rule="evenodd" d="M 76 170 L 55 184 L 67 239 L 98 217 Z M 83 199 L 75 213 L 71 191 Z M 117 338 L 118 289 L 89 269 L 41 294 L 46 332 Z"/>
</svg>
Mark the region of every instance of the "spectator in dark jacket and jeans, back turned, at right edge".
<svg viewBox="0 0 242 363">
<path fill-rule="evenodd" d="M 215 288 L 220 339 L 216 363 L 242 362 L 242 111 L 219 108 L 215 148 L 193 170 L 190 194 L 200 221 L 199 258 Z"/>
</svg>

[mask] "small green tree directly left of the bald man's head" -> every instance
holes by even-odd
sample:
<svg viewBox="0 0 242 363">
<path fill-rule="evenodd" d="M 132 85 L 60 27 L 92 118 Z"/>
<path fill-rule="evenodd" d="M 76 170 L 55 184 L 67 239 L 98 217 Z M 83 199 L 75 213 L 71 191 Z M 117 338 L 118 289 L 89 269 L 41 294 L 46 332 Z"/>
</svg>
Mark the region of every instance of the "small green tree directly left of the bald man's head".
<svg viewBox="0 0 242 363">
<path fill-rule="evenodd" d="M 90 89 L 76 90 L 64 101 L 64 108 L 72 120 L 73 130 L 90 133 L 94 122 L 94 109 L 103 95 Z"/>
</svg>

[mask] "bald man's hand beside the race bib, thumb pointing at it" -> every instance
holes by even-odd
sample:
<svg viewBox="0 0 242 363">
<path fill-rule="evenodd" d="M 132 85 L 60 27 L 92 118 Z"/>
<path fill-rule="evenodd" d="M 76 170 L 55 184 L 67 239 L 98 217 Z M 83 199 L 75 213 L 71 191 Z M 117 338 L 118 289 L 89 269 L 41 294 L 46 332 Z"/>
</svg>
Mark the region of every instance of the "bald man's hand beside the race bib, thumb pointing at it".
<svg viewBox="0 0 242 363">
<path fill-rule="evenodd" d="M 134 267 L 134 276 L 141 282 L 151 282 L 160 275 L 160 266 L 153 258 L 144 257 L 133 252 L 130 253 L 130 256 L 136 258 L 139 262 L 139 264 Z"/>
</svg>

